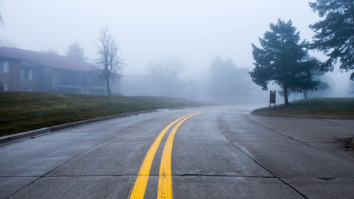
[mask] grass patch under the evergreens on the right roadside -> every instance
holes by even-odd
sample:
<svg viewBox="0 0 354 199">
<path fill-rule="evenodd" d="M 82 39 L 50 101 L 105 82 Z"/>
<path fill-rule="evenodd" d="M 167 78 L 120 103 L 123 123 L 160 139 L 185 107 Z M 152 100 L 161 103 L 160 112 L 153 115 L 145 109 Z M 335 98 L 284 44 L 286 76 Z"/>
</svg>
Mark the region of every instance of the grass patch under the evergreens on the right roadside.
<svg viewBox="0 0 354 199">
<path fill-rule="evenodd" d="M 276 110 L 269 107 L 253 110 L 254 113 L 271 115 L 305 115 L 314 117 L 334 117 L 354 119 L 354 98 L 309 98 L 276 106 Z"/>
</svg>

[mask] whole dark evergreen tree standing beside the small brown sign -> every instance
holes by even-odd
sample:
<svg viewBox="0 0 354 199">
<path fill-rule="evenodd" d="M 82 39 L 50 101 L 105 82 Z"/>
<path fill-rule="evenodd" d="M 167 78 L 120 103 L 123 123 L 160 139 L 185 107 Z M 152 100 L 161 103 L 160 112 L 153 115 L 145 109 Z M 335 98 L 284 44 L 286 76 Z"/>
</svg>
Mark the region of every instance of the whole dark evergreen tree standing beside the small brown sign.
<svg viewBox="0 0 354 199">
<path fill-rule="evenodd" d="M 253 47 L 255 68 L 249 74 L 252 81 L 263 90 L 268 89 L 268 83 L 274 81 L 284 91 L 285 106 L 289 106 L 288 89 L 293 92 L 316 90 L 319 81 L 312 79 L 312 70 L 318 60 L 302 61 L 307 55 L 308 42 L 300 42 L 300 33 L 292 26 L 292 21 L 270 23 L 270 30 L 263 38 L 259 38 L 261 48 Z"/>
</svg>

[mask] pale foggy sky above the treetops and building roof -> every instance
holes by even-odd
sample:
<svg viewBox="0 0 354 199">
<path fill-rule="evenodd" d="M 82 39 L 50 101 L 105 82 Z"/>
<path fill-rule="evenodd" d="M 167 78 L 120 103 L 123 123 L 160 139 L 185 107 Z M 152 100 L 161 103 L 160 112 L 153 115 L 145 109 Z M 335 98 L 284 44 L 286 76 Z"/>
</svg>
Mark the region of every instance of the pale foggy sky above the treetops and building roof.
<svg viewBox="0 0 354 199">
<path fill-rule="evenodd" d="M 86 57 L 94 59 L 98 29 L 108 25 L 128 64 L 125 73 L 145 72 L 149 62 L 164 57 L 178 57 L 190 72 L 205 71 L 216 55 L 232 58 L 237 67 L 251 68 L 251 42 L 258 45 L 269 23 L 292 19 L 302 39 L 311 41 L 314 33 L 308 26 L 319 21 L 308 0 L 0 2 L 1 42 L 27 50 L 53 48 L 61 55 L 78 42 Z"/>
</svg>

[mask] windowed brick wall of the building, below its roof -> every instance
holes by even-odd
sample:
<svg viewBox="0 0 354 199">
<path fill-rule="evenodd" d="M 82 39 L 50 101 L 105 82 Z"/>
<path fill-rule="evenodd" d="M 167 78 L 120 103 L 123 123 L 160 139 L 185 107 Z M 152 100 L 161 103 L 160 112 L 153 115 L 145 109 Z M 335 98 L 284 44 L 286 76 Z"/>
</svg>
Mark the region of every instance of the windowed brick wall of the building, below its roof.
<svg viewBox="0 0 354 199">
<path fill-rule="evenodd" d="M 0 59 L 0 62 L 6 59 Z M 6 60 L 9 61 L 9 60 Z M 70 69 L 52 69 L 26 61 L 9 61 L 8 73 L 0 70 L 0 84 L 8 91 L 34 91 L 76 94 L 107 94 L 104 82 L 97 72 Z M 65 75 L 62 77 L 62 75 Z M 72 81 L 77 80 L 77 81 Z M 63 81 L 63 82 L 62 82 Z M 66 82 L 64 82 L 66 81 Z M 112 86 L 114 91 L 114 86 Z"/>
</svg>

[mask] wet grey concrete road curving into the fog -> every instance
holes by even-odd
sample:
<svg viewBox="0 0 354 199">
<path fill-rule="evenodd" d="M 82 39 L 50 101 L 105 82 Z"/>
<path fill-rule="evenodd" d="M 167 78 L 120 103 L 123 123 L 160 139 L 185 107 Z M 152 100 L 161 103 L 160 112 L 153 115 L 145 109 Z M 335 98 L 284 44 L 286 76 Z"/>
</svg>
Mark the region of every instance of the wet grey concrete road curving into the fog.
<svg viewBox="0 0 354 199">
<path fill-rule="evenodd" d="M 161 110 L 1 146 L 0 198 L 354 198 L 348 137 L 353 120 Z"/>
</svg>

